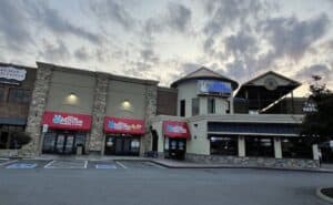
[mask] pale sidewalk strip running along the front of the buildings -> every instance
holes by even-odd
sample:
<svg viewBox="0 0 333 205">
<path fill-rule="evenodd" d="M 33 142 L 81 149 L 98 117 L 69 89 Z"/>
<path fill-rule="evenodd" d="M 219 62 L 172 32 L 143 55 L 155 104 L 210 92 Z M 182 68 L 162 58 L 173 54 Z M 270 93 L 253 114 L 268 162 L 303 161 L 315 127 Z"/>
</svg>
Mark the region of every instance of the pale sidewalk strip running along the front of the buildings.
<svg viewBox="0 0 333 205">
<path fill-rule="evenodd" d="M 299 172 L 317 172 L 333 173 L 333 164 L 323 164 L 320 168 L 287 168 L 287 167 L 270 167 L 270 166 L 246 166 L 235 164 L 206 164 L 194 163 L 188 161 L 175 161 L 169 158 L 152 158 L 141 156 L 100 156 L 100 155 L 48 155 L 43 154 L 32 160 L 84 160 L 84 161 L 149 161 L 168 168 L 254 168 L 254 170 L 278 170 L 278 171 L 299 171 Z"/>
</svg>

